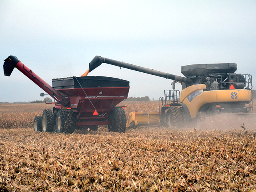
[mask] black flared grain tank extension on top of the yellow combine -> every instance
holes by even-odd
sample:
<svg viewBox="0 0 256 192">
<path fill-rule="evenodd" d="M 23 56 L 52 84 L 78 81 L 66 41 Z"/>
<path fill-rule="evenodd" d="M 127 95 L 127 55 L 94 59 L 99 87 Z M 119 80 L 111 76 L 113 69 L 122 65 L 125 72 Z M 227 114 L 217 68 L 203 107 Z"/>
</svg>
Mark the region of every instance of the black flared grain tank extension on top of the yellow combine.
<svg viewBox="0 0 256 192">
<path fill-rule="evenodd" d="M 236 63 L 194 64 L 181 67 L 181 73 L 186 77 L 204 76 L 214 73 L 234 73 L 236 70 Z"/>
</svg>

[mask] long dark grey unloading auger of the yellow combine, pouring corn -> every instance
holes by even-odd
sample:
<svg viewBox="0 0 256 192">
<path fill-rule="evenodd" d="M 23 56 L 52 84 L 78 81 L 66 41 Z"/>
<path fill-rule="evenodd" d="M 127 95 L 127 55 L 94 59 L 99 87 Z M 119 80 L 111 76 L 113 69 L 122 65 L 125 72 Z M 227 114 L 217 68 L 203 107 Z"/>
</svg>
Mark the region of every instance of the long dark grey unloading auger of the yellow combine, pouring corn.
<svg viewBox="0 0 256 192">
<path fill-rule="evenodd" d="M 190 78 L 181 77 L 181 76 L 177 76 L 177 75 L 173 75 L 173 74 L 169 74 L 169 73 L 165 73 L 165 72 L 157 71 L 157 70 L 154 70 L 154 69 L 149 69 L 149 68 L 145 68 L 145 67 L 125 63 L 125 62 L 120 62 L 120 61 L 108 59 L 108 58 L 101 57 L 101 56 L 95 56 L 93 58 L 93 60 L 89 63 L 88 72 L 91 72 L 96 67 L 100 66 L 102 63 L 107 63 L 107 64 L 115 65 L 115 66 L 118 66 L 118 67 L 121 67 L 121 68 L 123 67 L 123 68 L 131 69 L 131 70 L 134 70 L 134 71 L 139 71 L 139 72 L 142 72 L 142 73 L 147 73 L 147 74 L 159 76 L 159 77 L 163 77 L 163 78 L 166 78 L 166 79 L 172 79 L 172 80 L 175 80 L 175 81 L 184 82 L 186 84 L 192 84 L 193 83 L 192 79 L 190 79 Z"/>
</svg>

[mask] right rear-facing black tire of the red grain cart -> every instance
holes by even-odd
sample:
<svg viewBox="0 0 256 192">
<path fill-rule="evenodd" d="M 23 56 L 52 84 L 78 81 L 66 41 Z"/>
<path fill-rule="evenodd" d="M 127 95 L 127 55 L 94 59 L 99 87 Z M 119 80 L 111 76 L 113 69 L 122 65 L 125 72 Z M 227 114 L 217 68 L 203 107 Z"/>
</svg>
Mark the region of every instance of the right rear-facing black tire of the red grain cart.
<svg viewBox="0 0 256 192">
<path fill-rule="evenodd" d="M 112 121 L 112 125 L 108 125 L 109 132 L 125 133 L 126 130 L 126 116 L 123 108 L 114 107 L 108 117 Z"/>
</svg>

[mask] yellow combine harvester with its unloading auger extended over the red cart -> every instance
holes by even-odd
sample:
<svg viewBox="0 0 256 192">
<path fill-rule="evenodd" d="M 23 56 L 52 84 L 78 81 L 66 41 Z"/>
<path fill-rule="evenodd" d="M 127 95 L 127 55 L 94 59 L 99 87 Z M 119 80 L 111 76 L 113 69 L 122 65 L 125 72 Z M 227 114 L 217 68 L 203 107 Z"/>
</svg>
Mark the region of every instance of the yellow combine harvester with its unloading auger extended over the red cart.
<svg viewBox="0 0 256 192">
<path fill-rule="evenodd" d="M 252 76 L 236 74 L 237 64 L 193 64 L 181 67 L 185 76 L 176 76 L 141 66 L 128 64 L 100 56 L 95 56 L 89 64 L 88 74 L 102 63 L 121 68 L 160 76 L 174 80 L 174 90 L 164 91 L 160 98 L 160 112 L 131 113 L 127 127 L 136 125 L 161 124 L 162 126 L 179 126 L 184 119 L 191 120 L 201 113 L 238 113 L 250 112 L 252 102 Z M 182 91 L 175 90 L 175 83 L 181 82 Z"/>
</svg>

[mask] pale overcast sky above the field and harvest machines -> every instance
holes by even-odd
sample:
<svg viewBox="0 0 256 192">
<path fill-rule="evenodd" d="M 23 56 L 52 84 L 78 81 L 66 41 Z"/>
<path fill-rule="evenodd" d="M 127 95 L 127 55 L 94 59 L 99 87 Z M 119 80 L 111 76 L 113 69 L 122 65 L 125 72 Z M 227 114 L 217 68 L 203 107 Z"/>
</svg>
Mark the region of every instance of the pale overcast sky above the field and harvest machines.
<svg viewBox="0 0 256 192">
<path fill-rule="evenodd" d="M 96 55 L 183 76 L 181 66 L 237 63 L 256 77 L 256 1 L 0 0 L 0 59 L 17 56 L 52 85 L 81 76 Z M 102 64 L 89 75 L 130 81 L 129 96 L 158 99 L 172 80 Z M 16 68 L 0 101 L 43 100 Z"/>
</svg>

